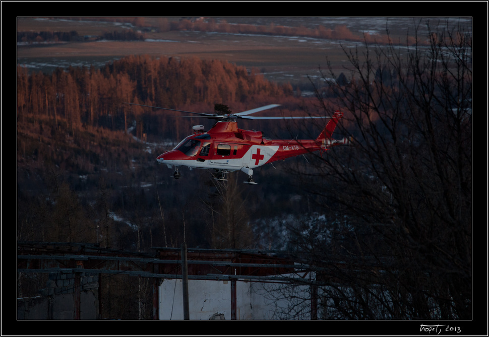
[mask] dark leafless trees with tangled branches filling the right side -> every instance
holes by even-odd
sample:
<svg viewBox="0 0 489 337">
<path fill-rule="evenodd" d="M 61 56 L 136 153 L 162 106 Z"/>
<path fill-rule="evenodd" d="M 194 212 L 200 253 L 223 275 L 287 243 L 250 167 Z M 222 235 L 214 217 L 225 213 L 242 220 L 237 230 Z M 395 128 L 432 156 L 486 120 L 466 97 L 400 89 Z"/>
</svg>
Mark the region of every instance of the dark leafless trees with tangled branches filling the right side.
<svg viewBox="0 0 489 337">
<path fill-rule="evenodd" d="M 323 318 L 472 317 L 471 33 L 426 25 L 428 47 L 344 48 L 353 146 L 299 172 L 327 219 L 290 228 Z"/>
</svg>

